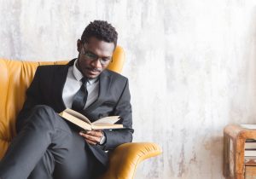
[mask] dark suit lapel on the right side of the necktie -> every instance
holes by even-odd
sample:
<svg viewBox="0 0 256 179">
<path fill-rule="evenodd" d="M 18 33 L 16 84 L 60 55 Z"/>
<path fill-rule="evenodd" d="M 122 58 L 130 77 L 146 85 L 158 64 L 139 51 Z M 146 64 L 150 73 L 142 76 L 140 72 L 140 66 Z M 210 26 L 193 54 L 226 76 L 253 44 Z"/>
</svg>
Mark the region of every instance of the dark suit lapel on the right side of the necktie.
<svg viewBox="0 0 256 179">
<path fill-rule="evenodd" d="M 111 84 L 111 76 L 109 75 L 108 70 L 105 70 L 105 71 L 102 72 L 102 74 L 100 75 L 99 80 L 100 80 L 100 82 L 99 82 L 99 95 L 98 95 L 96 101 L 94 101 L 89 107 L 87 107 L 85 109 L 85 113 L 90 113 L 97 106 L 102 104 L 102 102 L 104 101 L 105 96 L 108 95 L 109 87 L 110 87 L 110 84 Z"/>
</svg>

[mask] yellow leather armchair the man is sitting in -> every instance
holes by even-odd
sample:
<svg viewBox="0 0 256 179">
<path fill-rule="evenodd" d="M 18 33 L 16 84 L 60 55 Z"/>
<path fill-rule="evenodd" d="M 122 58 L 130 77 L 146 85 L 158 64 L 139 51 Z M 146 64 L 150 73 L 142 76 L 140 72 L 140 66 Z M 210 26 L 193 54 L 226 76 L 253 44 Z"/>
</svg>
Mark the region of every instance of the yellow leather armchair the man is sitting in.
<svg viewBox="0 0 256 179">
<path fill-rule="evenodd" d="M 115 49 L 113 61 L 108 69 L 121 72 L 125 61 L 124 50 Z M 26 90 L 38 66 L 65 64 L 67 61 L 28 62 L 0 59 L 0 159 L 15 136 L 15 120 L 26 99 Z M 110 163 L 102 179 L 131 179 L 137 165 L 144 159 L 161 153 L 152 142 L 125 143 L 117 147 L 110 156 Z"/>
</svg>

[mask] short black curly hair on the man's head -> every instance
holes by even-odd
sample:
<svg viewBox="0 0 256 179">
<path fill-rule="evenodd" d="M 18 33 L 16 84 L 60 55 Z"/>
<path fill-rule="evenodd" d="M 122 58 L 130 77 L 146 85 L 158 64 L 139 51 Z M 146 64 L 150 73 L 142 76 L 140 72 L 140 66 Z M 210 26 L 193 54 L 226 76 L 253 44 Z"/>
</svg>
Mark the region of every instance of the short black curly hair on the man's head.
<svg viewBox="0 0 256 179">
<path fill-rule="evenodd" d="M 94 20 L 85 27 L 84 32 L 81 36 L 82 43 L 88 43 L 91 37 L 108 43 L 114 43 L 114 47 L 116 47 L 118 32 L 116 32 L 115 28 L 107 21 Z"/>
</svg>

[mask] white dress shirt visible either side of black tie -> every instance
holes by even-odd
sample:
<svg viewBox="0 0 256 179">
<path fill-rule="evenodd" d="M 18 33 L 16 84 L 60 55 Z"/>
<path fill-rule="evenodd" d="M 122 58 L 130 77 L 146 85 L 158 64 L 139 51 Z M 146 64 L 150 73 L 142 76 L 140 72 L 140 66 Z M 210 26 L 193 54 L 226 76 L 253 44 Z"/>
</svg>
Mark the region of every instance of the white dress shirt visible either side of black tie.
<svg viewBox="0 0 256 179">
<path fill-rule="evenodd" d="M 73 66 L 70 66 L 68 68 L 67 72 L 67 79 L 66 83 L 64 84 L 64 89 L 62 93 L 62 98 L 64 101 L 64 104 L 67 108 L 72 107 L 73 103 L 73 96 L 78 92 L 82 85 L 81 79 L 84 77 L 83 74 L 79 71 L 76 64 L 77 61 L 74 61 Z M 94 101 L 96 101 L 96 98 L 99 94 L 99 80 L 98 78 L 90 79 L 87 84 L 87 91 L 88 91 L 88 97 L 86 104 L 84 106 L 84 109 L 86 107 L 89 107 L 90 104 L 92 104 Z"/>
</svg>

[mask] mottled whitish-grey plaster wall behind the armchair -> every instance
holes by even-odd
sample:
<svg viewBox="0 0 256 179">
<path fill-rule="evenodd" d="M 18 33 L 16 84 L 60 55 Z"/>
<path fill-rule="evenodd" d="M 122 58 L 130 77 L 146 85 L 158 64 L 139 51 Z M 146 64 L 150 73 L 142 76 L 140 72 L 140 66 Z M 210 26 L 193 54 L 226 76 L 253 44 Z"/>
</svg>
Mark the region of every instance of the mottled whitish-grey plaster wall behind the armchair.
<svg viewBox="0 0 256 179">
<path fill-rule="evenodd" d="M 71 59 L 90 20 L 116 26 L 135 141 L 164 152 L 138 179 L 221 179 L 224 126 L 256 122 L 256 1 L 0 0 L 0 12 L 11 59 Z"/>
</svg>

